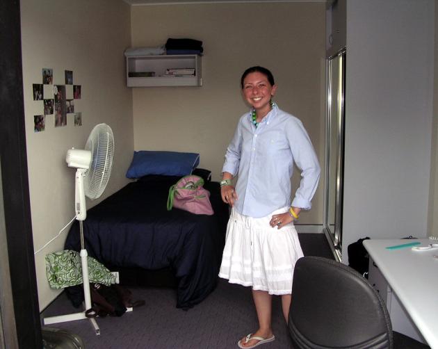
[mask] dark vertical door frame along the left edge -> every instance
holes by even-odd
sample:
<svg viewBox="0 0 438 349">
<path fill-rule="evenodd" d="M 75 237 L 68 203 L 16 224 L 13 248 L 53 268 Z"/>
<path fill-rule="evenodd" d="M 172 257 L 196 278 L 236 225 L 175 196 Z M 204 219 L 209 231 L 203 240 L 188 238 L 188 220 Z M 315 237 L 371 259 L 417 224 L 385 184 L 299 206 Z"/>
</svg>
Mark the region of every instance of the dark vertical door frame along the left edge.
<svg viewBox="0 0 438 349">
<path fill-rule="evenodd" d="M 0 159 L 19 348 L 42 348 L 24 125 L 19 0 L 0 1 Z"/>
</svg>

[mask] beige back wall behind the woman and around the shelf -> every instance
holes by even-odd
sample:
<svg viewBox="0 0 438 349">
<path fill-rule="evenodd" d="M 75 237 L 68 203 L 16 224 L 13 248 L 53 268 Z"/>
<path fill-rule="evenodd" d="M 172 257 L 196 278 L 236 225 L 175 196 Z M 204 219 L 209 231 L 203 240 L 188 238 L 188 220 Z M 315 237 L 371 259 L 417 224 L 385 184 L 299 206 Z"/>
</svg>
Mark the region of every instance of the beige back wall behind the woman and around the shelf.
<svg viewBox="0 0 438 349">
<path fill-rule="evenodd" d="M 160 46 L 168 38 L 202 40 L 204 84 L 133 88 L 136 150 L 200 152 L 200 167 L 219 179 L 238 117 L 248 111 L 241 97 L 241 74 L 247 67 L 263 65 L 275 76 L 279 107 L 302 120 L 323 165 L 325 3 L 131 8 L 133 47 Z M 322 224 L 323 180 L 313 204 L 300 223 Z"/>
</svg>

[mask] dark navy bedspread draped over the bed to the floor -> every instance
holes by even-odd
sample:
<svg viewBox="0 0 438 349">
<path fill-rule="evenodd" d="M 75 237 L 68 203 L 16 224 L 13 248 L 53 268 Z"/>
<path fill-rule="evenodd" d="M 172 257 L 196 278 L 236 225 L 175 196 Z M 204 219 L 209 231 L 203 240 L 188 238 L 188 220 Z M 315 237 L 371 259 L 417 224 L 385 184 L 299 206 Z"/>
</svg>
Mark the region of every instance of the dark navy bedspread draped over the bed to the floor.
<svg viewBox="0 0 438 349">
<path fill-rule="evenodd" d="M 177 307 L 188 309 L 216 287 L 228 206 L 217 182 L 207 182 L 213 216 L 167 211 L 168 190 L 179 177 L 147 176 L 124 186 L 89 209 L 83 222 L 86 249 L 105 266 L 159 270 L 177 279 Z M 79 222 L 65 248 L 80 250 Z"/>
</svg>

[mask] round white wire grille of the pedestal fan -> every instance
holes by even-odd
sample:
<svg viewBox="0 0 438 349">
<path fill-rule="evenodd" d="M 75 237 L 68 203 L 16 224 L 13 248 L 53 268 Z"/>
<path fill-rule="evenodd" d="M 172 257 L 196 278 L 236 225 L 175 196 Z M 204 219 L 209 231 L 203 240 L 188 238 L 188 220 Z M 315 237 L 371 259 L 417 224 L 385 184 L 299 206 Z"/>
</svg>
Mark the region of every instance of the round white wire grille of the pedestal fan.
<svg viewBox="0 0 438 349">
<path fill-rule="evenodd" d="M 102 195 L 111 175 L 114 154 L 111 127 L 107 124 L 96 125 L 88 137 L 86 149 L 90 150 L 92 161 L 84 178 L 84 190 L 85 195 L 93 200 Z"/>
</svg>

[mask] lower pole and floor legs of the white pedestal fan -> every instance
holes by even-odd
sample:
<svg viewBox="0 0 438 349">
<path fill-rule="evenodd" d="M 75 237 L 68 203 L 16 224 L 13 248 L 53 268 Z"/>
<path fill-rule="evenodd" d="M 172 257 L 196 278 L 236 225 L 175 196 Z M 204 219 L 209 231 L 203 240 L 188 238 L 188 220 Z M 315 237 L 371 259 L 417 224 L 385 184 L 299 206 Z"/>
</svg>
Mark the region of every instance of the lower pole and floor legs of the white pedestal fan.
<svg viewBox="0 0 438 349">
<path fill-rule="evenodd" d="M 49 318 L 44 318 L 44 325 L 50 325 L 52 323 L 65 323 L 67 321 L 83 320 L 88 318 L 86 316 L 86 310 L 91 308 L 91 295 L 90 295 L 90 280 L 88 279 L 88 252 L 85 248 L 85 243 L 83 241 L 83 223 L 79 220 L 79 229 L 81 231 L 81 265 L 82 265 L 82 278 L 83 278 L 83 298 L 85 303 L 85 310 L 80 313 L 67 314 L 60 316 L 51 316 Z M 99 325 L 97 325 L 95 318 L 88 318 L 92 327 L 95 329 L 96 335 L 100 334 Z"/>
</svg>

